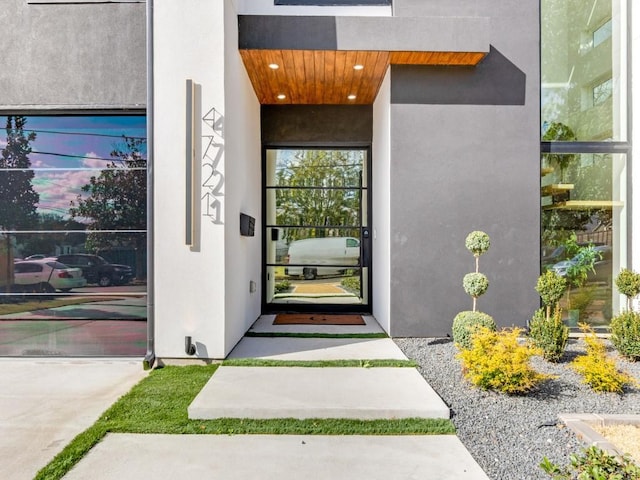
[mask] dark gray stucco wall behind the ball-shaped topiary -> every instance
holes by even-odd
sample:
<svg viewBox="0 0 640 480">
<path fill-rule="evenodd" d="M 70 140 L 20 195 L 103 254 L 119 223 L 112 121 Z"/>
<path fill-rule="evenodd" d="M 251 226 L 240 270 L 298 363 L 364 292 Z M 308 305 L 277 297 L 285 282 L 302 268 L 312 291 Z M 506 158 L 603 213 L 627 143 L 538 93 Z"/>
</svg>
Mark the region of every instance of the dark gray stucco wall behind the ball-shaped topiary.
<svg viewBox="0 0 640 480">
<path fill-rule="evenodd" d="M 538 1 L 395 0 L 394 9 L 489 17 L 492 52 L 475 72 L 392 69 L 391 334 L 447 335 L 471 309 L 462 278 L 474 270 L 472 230 L 492 240 L 478 308 L 525 325 L 539 301 Z"/>
</svg>

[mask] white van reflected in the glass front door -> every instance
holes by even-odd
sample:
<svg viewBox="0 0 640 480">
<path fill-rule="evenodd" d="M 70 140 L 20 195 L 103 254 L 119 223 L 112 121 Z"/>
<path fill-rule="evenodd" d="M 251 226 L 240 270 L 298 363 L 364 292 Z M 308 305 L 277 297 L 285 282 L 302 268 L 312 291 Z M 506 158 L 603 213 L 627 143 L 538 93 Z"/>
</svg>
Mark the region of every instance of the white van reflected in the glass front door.
<svg viewBox="0 0 640 480">
<path fill-rule="evenodd" d="M 359 259 L 360 240 L 357 238 L 296 240 L 289 245 L 288 263 L 291 266 L 285 269 L 285 275 L 303 277 L 305 280 L 322 275 L 342 275 L 347 270 L 345 267 L 357 267 Z"/>
</svg>

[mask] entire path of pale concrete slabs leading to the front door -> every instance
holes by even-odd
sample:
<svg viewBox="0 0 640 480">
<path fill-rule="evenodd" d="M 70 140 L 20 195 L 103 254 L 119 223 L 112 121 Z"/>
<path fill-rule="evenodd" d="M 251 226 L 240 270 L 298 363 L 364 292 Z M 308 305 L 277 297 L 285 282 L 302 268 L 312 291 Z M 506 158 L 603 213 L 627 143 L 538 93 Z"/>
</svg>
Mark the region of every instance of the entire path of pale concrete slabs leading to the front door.
<svg viewBox="0 0 640 480">
<path fill-rule="evenodd" d="M 273 326 L 251 332 L 335 331 Z M 358 327 L 347 327 L 358 333 Z M 373 319 L 360 331 L 380 331 Z M 231 357 L 270 359 L 405 358 L 390 339 L 246 337 Z M 366 362 L 363 362 L 363 365 Z M 435 367 L 437 368 L 437 367 Z M 303 371 L 300 371 L 303 370 Z M 339 404 L 339 409 L 331 406 Z M 206 412 L 204 415 L 202 412 Z M 192 418 L 449 417 L 413 368 L 221 367 L 189 408 Z M 225 480 L 474 479 L 488 477 L 455 435 L 108 435 L 67 479 L 220 478 Z"/>
</svg>

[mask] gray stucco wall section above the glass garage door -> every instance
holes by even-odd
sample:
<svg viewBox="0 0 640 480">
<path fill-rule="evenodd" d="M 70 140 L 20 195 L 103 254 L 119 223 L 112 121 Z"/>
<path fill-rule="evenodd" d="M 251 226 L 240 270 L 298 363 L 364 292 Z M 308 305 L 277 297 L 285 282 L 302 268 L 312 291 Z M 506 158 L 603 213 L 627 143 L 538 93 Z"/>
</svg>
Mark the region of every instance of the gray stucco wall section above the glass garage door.
<svg viewBox="0 0 640 480">
<path fill-rule="evenodd" d="M 144 108 L 144 3 L 3 0 L 0 108 Z"/>
</svg>

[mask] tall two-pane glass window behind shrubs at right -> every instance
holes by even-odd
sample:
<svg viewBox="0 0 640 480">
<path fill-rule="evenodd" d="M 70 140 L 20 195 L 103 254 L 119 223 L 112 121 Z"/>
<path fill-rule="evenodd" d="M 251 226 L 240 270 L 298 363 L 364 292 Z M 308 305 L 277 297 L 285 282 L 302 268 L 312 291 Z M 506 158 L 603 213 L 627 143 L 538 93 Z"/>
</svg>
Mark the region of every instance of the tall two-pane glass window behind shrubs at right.
<svg viewBox="0 0 640 480">
<path fill-rule="evenodd" d="M 628 261 L 627 1 L 541 9 L 542 269 L 572 280 L 580 249 L 595 250 L 561 306 L 572 326 L 604 326 L 620 309 L 613 279 Z"/>
</svg>

